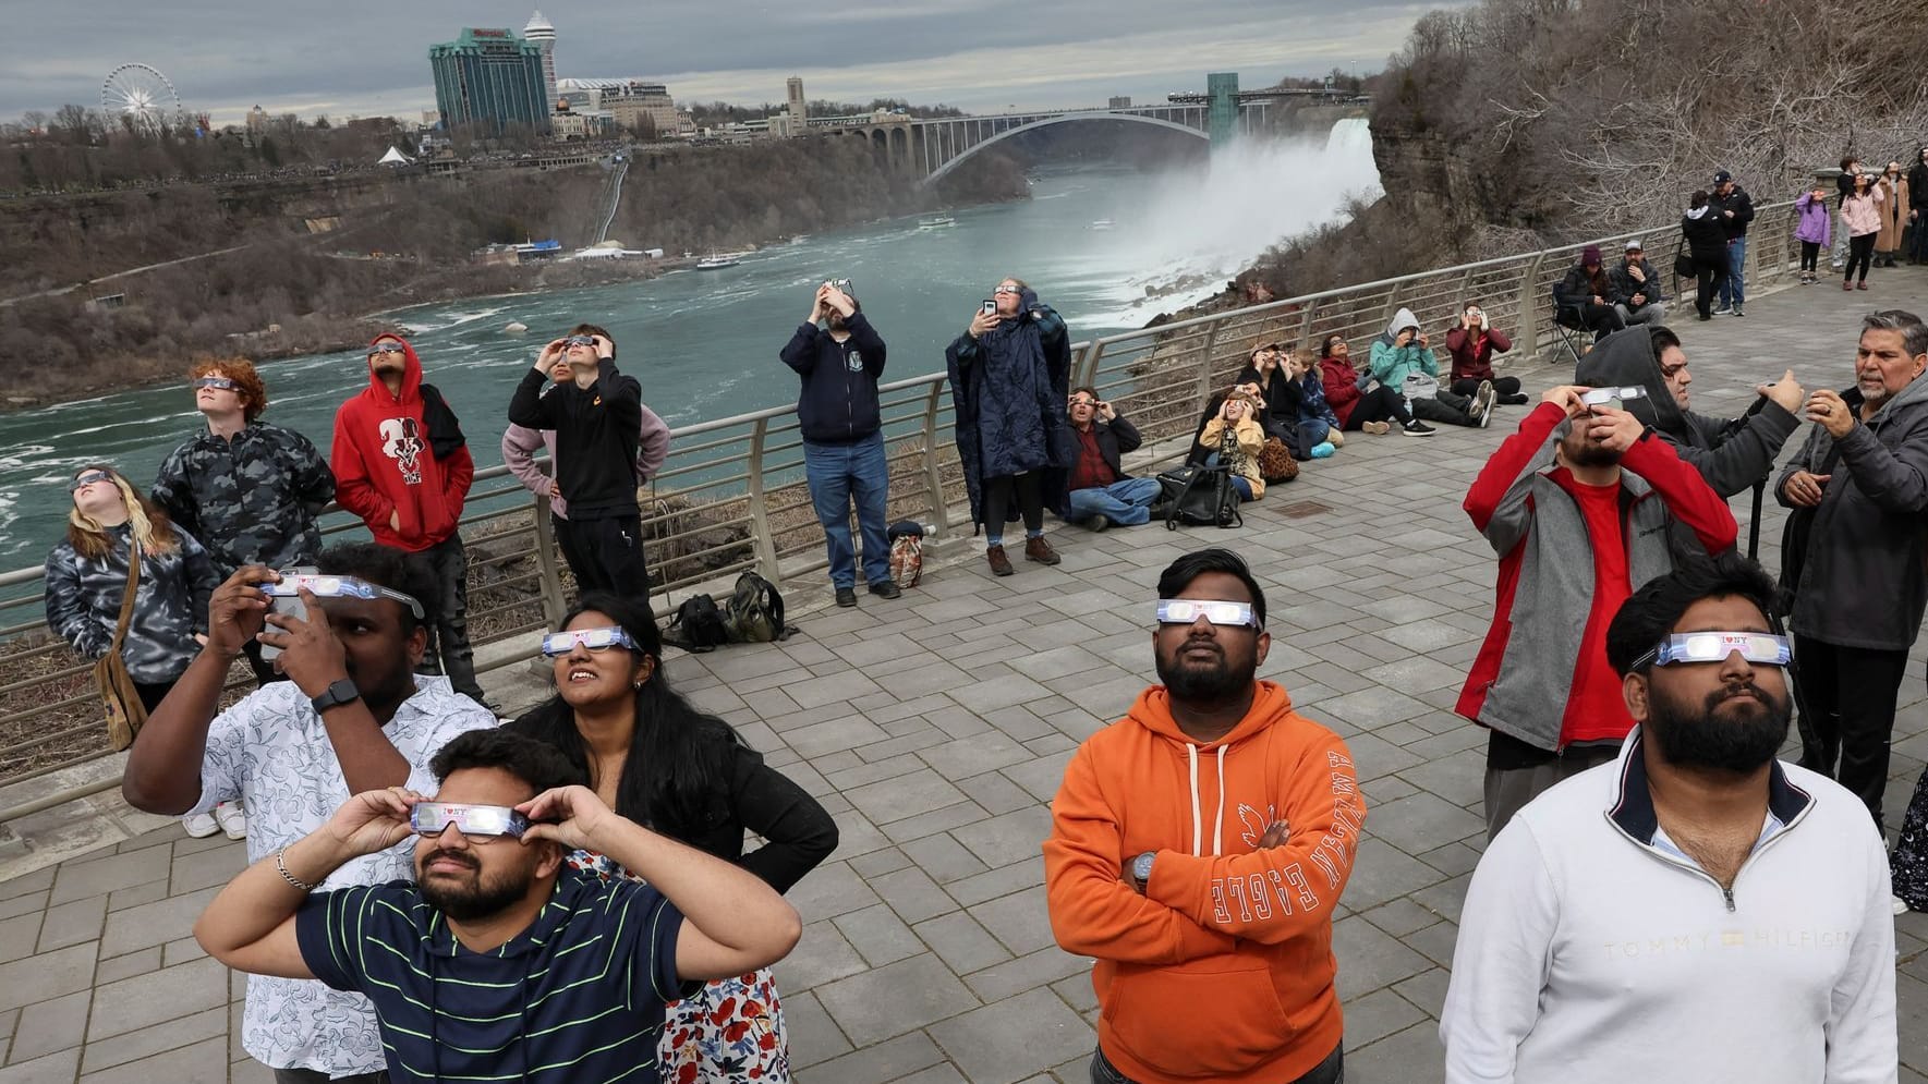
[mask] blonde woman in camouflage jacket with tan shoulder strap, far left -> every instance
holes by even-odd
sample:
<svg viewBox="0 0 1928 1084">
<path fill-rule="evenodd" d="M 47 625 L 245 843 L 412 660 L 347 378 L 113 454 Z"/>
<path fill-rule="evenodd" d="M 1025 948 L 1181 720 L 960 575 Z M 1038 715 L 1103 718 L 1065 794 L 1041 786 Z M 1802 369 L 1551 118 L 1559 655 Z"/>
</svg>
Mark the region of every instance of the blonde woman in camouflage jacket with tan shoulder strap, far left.
<svg viewBox="0 0 1928 1084">
<path fill-rule="evenodd" d="M 89 660 L 108 654 L 127 594 L 129 544 L 139 544 L 141 583 L 121 662 L 141 704 L 152 712 L 206 642 L 208 596 L 220 586 L 214 563 L 193 534 L 175 527 L 114 467 L 81 467 L 67 492 L 73 494 L 67 540 L 46 556 L 46 627 Z M 193 837 L 247 835 L 239 804 L 181 824 Z"/>
</svg>

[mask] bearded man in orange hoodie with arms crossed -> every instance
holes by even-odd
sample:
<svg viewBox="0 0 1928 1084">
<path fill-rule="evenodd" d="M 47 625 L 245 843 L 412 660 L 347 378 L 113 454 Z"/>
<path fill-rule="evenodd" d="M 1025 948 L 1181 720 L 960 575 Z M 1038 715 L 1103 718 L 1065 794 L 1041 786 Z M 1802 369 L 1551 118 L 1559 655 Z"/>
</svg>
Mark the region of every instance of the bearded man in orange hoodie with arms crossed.
<svg viewBox="0 0 1928 1084">
<path fill-rule="evenodd" d="M 1271 637 L 1238 554 L 1165 569 L 1151 648 L 1165 685 L 1078 748 L 1045 841 L 1051 930 L 1097 957 L 1091 1080 L 1332 1084 L 1352 754 L 1253 679 Z"/>
</svg>

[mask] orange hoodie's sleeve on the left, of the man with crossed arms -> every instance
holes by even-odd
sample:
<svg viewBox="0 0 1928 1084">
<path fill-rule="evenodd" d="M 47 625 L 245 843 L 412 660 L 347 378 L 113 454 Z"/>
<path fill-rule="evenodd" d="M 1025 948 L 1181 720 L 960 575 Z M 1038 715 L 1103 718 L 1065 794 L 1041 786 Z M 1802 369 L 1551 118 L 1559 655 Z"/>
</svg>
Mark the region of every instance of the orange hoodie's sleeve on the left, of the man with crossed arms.
<svg viewBox="0 0 1928 1084">
<path fill-rule="evenodd" d="M 1045 839 L 1051 932 L 1066 953 L 1132 964 L 1182 964 L 1236 947 L 1232 935 L 1205 930 L 1165 903 L 1132 891 L 1120 880 L 1122 851 L 1118 814 L 1105 799 L 1091 746 L 1085 745 L 1064 766 L 1064 783 L 1051 800 L 1051 837 Z"/>
</svg>

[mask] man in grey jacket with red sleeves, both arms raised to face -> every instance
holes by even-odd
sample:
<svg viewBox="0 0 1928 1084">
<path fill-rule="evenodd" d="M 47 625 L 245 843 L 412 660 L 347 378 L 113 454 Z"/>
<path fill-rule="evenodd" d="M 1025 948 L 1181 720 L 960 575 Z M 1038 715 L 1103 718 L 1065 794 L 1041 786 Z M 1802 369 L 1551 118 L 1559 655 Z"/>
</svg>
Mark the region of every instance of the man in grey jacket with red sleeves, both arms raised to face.
<svg viewBox="0 0 1928 1084">
<path fill-rule="evenodd" d="M 1620 604 L 1675 552 L 1733 546 L 1726 501 L 1625 409 L 1643 395 L 1548 388 L 1465 496 L 1500 557 L 1492 629 L 1458 704 L 1492 731 L 1486 839 L 1554 783 L 1614 760 L 1633 729 L 1606 662 Z"/>
</svg>

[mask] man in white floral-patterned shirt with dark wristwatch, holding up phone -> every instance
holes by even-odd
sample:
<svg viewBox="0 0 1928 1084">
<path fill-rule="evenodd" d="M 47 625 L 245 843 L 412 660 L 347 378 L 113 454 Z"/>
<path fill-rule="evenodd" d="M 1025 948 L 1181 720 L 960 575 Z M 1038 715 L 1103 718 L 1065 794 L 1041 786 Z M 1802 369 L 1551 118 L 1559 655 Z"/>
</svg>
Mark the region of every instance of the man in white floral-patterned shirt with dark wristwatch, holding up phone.
<svg viewBox="0 0 1928 1084">
<path fill-rule="evenodd" d="M 335 546 L 318 567 L 328 579 L 293 596 L 307 619 L 270 611 L 262 584 L 281 577 L 260 565 L 214 592 L 208 646 L 127 754 L 121 793 L 129 804 L 185 814 L 239 799 L 249 808 L 253 862 L 320 827 L 349 795 L 434 791 L 430 758 L 455 735 L 495 725 L 445 677 L 415 675 L 434 615 L 416 602 L 399 550 Z M 249 640 L 280 650 L 289 681 L 216 716 L 228 667 Z M 349 862 L 322 887 L 409 878 L 409 847 L 397 847 Z M 320 982 L 249 976 L 241 1042 L 274 1069 L 278 1084 L 386 1080 L 368 999 Z"/>
</svg>

